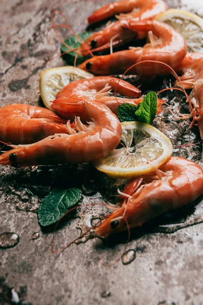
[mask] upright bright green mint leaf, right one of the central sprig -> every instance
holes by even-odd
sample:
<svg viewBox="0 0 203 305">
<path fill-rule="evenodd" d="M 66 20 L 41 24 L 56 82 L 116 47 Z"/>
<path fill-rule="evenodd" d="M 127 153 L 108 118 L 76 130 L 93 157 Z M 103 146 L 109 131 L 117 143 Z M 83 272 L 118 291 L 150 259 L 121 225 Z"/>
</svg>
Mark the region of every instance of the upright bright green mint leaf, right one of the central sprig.
<svg viewBox="0 0 203 305">
<path fill-rule="evenodd" d="M 137 120 L 152 125 L 157 110 L 157 95 L 149 92 L 138 105 L 136 110 Z"/>
</svg>

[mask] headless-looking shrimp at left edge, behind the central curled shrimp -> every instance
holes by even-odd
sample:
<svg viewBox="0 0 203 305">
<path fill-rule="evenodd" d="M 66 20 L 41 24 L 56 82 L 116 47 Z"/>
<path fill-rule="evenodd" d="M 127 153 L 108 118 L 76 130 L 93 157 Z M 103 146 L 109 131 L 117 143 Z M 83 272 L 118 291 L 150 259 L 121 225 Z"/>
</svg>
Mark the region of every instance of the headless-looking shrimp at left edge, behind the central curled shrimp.
<svg viewBox="0 0 203 305">
<path fill-rule="evenodd" d="M 43 107 L 12 104 L 0 108 L 0 140 L 30 144 L 55 133 L 68 133 L 66 120 Z"/>
</svg>

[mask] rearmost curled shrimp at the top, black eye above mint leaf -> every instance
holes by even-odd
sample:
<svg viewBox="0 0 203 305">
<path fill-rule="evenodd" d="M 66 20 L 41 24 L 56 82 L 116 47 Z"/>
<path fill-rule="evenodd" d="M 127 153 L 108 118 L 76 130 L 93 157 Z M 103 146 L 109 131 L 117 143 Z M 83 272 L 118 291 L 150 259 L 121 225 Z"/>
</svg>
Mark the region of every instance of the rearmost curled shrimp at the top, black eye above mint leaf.
<svg viewBox="0 0 203 305">
<path fill-rule="evenodd" d="M 133 10 L 136 8 L 136 10 Z M 133 10 L 133 11 L 132 11 Z M 91 15 L 87 20 L 89 23 L 97 22 L 104 18 L 113 16 L 114 14 L 129 12 L 127 14 L 128 18 L 132 18 L 134 20 L 152 20 L 156 15 L 162 13 L 167 10 L 167 5 L 162 0 L 125 0 L 121 2 L 115 2 L 113 4 L 109 4 L 104 8 L 99 9 L 93 15 Z M 107 13 L 107 15 L 104 14 Z M 124 14 L 122 14 L 123 16 Z M 100 19 L 101 18 L 101 19 Z M 119 19 L 121 16 L 119 17 Z M 110 46 L 119 46 L 123 45 L 132 39 L 142 39 L 145 37 L 145 33 L 143 32 L 133 32 L 128 28 L 122 26 L 120 21 L 112 22 L 105 29 L 94 33 L 85 42 L 80 46 L 78 52 L 83 56 L 90 53 L 90 51 L 102 51 L 109 49 Z"/>
</svg>

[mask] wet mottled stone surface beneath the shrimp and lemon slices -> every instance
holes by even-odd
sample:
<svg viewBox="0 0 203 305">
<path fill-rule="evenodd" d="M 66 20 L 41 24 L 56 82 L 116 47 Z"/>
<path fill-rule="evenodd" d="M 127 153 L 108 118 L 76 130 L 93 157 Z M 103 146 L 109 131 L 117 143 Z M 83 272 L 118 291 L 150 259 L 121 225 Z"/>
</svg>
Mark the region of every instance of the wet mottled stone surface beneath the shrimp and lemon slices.
<svg viewBox="0 0 203 305">
<path fill-rule="evenodd" d="M 110 1 L 103 1 L 103 4 Z M 62 66 L 61 58 L 44 65 L 59 54 L 60 44 L 51 31 L 51 11 L 60 9 L 69 25 L 79 33 L 85 30 L 86 17 L 101 2 L 93 0 L 51 0 L 49 3 L 3 1 L 4 31 L 1 45 L 0 105 L 25 103 L 40 105 L 38 88 L 42 69 Z M 201 2 L 168 1 L 178 7 L 201 14 Z M 85 10 L 84 10 L 85 8 Z M 83 13 L 81 13 L 81 10 Z M 59 16 L 56 21 L 61 22 Z M 97 31 L 105 23 L 89 27 Z M 66 29 L 61 29 L 66 38 Z M 44 65 L 44 66 L 43 66 Z M 156 79 L 130 78 L 142 84 L 142 91 L 160 90 L 173 85 L 173 77 Z M 201 144 L 196 128 L 175 115 L 188 113 L 184 96 L 173 91 L 160 95 L 167 104 L 157 115 L 154 126 L 170 137 L 174 156 L 182 156 L 202 165 Z M 171 109 L 174 114 L 170 112 Z M 179 147 L 180 146 L 180 147 Z M 0 167 L 0 303 L 13 304 L 202 304 L 203 203 L 198 202 L 169 213 L 131 231 L 107 240 L 84 237 L 59 255 L 51 254 L 53 227 L 41 228 L 37 211 L 41 200 L 54 188 L 77 187 L 82 190 L 80 207 L 65 218 L 56 231 L 54 247 L 96 226 L 111 212 L 104 205 L 118 203 L 117 188 L 123 190 L 125 180 L 114 180 L 98 173 L 90 164 L 38 166 L 16 169 Z M 104 200 L 103 200 L 104 199 Z M 17 239 L 11 237 L 17 232 Z M 5 235 L 6 233 L 6 235 Z M 8 235 L 8 233 L 10 235 Z M 12 234 L 12 235 L 11 235 Z M 15 236 L 15 235 L 14 235 Z M 18 242 L 19 241 L 19 242 Z M 17 245 L 17 243 L 18 245 Z M 17 246 L 16 246 L 17 245 Z M 16 246 L 16 247 L 14 247 Z M 6 249 L 8 247 L 13 247 Z M 194 281 L 195 279 L 195 281 Z M 13 290 L 14 289 L 14 290 Z M 12 292 L 13 291 L 13 292 Z"/>
</svg>

